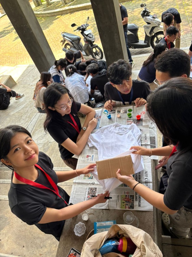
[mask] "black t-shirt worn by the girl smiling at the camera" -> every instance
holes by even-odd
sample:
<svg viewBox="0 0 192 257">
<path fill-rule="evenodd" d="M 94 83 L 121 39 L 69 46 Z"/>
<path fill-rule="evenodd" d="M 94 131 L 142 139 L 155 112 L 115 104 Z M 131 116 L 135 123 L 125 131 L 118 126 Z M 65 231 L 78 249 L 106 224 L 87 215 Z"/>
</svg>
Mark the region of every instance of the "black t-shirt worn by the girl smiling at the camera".
<svg viewBox="0 0 192 257">
<path fill-rule="evenodd" d="M 53 170 L 51 159 L 39 152 L 39 160 L 37 163 L 57 185 L 58 177 Z M 40 183 L 50 189 L 53 189 L 44 173 L 38 169 L 39 176 L 35 182 Z M 57 186 L 59 194 L 65 201 L 69 202 L 69 195 L 60 186 Z M 54 221 L 45 224 L 38 224 L 43 217 L 46 208 L 62 209 L 66 207 L 65 202 L 49 189 L 40 189 L 28 184 L 14 184 L 11 182 L 11 187 L 8 193 L 9 206 L 14 213 L 23 222 L 28 225 L 37 226 L 45 234 L 60 236 L 65 221 Z"/>
</svg>

